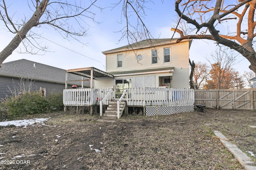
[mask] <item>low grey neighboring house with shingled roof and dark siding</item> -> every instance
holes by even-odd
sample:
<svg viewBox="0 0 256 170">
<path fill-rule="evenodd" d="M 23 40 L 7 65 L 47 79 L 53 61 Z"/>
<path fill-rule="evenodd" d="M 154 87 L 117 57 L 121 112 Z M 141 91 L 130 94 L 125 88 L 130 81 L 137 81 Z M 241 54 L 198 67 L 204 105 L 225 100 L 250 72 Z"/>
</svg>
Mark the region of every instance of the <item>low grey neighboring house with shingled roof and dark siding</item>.
<svg viewBox="0 0 256 170">
<path fill-rule="evenodd" d="M 11 96 L 10 89 L 20 88 L 20 79 L 24 79 L 24 85 L 32 82 L 32 90 L 46 89 L 46 96 L 50 92 L 63 92 L 65 89 L 66 70 L 48 66 L 25 59 L 3 63 L 0 67 L 0 98 Z M 81 79 L 81 76 L 68 74 L 68 80 Z M 32 80 L 32 81 L 31 81 Z M 72 84 L 81 86 L 81 82 L 68 82 L 68 87 Z M 89 83 L 89 82 L 88 82 Z M 86 86 L 86 84 L 84 84 Z"/>
</svg>

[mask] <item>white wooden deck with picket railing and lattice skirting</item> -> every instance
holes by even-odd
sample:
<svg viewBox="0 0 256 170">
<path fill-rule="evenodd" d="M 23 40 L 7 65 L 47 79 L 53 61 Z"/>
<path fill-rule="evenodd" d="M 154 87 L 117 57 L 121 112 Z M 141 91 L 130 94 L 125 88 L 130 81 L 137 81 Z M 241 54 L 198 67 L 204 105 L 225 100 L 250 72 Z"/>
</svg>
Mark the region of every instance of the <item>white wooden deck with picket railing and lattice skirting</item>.
<svg viewBox="0 0 256 170">
<path fill-rule="evenodd" d="M 102 115 L 102 105 L 108 105 L 114 100 L 113 88 L 93 89 L 64 89 L 64 106 L 93 106 L 100 105 L 100 115 Z M 155 115 L 155 110 L 167 114 L 166 112 L 179 113 L 194 110 L 194 89 L 184 88 L 127 88 L 122 97 L 118 100 L 126 101 L 127 106 L 145 106 L 148 115 Z M 148 110 L 148 111 L 147 111 Z M 147 114 L 146 114 L 147 115 Z"/>
</svg>

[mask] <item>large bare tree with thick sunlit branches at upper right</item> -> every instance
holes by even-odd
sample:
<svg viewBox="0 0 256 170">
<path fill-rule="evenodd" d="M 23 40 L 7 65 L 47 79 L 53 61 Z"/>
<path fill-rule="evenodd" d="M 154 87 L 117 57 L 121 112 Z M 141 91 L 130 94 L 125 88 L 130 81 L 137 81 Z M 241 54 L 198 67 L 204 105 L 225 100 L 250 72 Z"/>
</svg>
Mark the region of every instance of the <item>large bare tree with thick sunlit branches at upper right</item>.
<svg viewBox="0 0 256 170">
<path fill-rule="evenodd" d="M 183 39 L 209 39 L 216 41 L 243 55 L 249 68 L 256 72 L 256 51 L 253 48 L 256 21 L 256 0 L 176 0 L 178 16 L 196 28 L 196 33 L 185 35 L 182 30 L 172 28 Z M 185 13 L 187 11 L 187 13 Z M 228 25 L 236 25 L 234 32 Z M 224 29 L 227 28 L 227 29 Z"/>
</svg>

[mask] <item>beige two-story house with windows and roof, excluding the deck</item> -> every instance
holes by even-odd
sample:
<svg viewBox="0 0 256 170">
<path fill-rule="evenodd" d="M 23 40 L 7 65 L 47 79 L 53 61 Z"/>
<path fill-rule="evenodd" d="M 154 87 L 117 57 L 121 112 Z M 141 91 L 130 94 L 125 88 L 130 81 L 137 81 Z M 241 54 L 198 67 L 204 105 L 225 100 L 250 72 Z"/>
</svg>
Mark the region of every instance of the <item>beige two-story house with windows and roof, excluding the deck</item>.
<svg viewBox="0 0 256 170">
<path fill-rule="evenodd" d="M 191 42 L 151 39 L 104 51 L 106 72 L 114 76 L 114 81 L 108 78 L 95 80 L 95 88 L 114 86 L 116 98 L 125 88 L 189 88 Z"/>
</svg>

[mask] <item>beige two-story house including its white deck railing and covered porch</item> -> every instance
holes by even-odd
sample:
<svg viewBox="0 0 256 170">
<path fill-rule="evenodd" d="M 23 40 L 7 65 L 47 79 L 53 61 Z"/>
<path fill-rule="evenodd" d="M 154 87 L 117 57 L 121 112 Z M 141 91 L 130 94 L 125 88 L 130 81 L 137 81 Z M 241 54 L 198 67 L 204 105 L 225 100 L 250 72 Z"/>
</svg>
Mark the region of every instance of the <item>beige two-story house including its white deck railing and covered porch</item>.
<svg viewBox="0 0 256 170">
<path fill-rule="evenodd" d="M 111 100 L 125 99 L 127 106 L 143 106 L 146 110 L 152 109 L 151 106 L 168 106 L 166 111 L 174 113 L 179 109 L 169 106 L 182 104 L 186 105 L 182 112 L 190 111 L 194 109 L 194 91 L 188 89 L 191 43 L 190 39 L 180 43 L 176 43 L 176 39 L 147 39 L 102 52 L 106 55 L 106 72 L 90 67 L 67 70 L 67 73 L 90 78 L 91 89 L 113 89 Z M 73 92 L 74 90 L 67 90 L 64 94 L 65 106 L 95 104 L 95 101 L 89 100 L 94 95 L 102 102 L 108 97 L 107 94 L 99 97 L 99 94 L 104 93 L 102 90 L 86 91 L 86 95 L 82 91 L 80 94 Z M 78 97 L 69 97 L 73 95 Z M 84 98 L 88 99 L 84 101 Z M 155 111 L 156 107 L 153 109 Z"/>
</svg>

